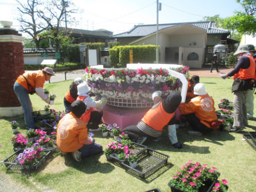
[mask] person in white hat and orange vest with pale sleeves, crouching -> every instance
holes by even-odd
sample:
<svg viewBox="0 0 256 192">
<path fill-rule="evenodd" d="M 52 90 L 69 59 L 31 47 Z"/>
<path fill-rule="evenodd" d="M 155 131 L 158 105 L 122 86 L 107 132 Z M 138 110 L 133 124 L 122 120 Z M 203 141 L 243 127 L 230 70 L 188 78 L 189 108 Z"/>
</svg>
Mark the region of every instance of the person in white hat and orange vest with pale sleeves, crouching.
<svg viewBox="0 0 256 192">
<path fill-rule="evenodd" d="M 88 92 L 91 90 L 86 83 L 81 83 L 77 86 L 77 100 L 83 101 L 86 105 L 86 112 L 81 116 L 81 119 L 87 123 L 90 132 L 101 131 L 99 124 L 103 112 L 101 109 L 93 110 L 93 108 L 100 108 L 107 103 L 106 97 L 102 97 L 99 101 L 91 99 Z"/>
</svg>

